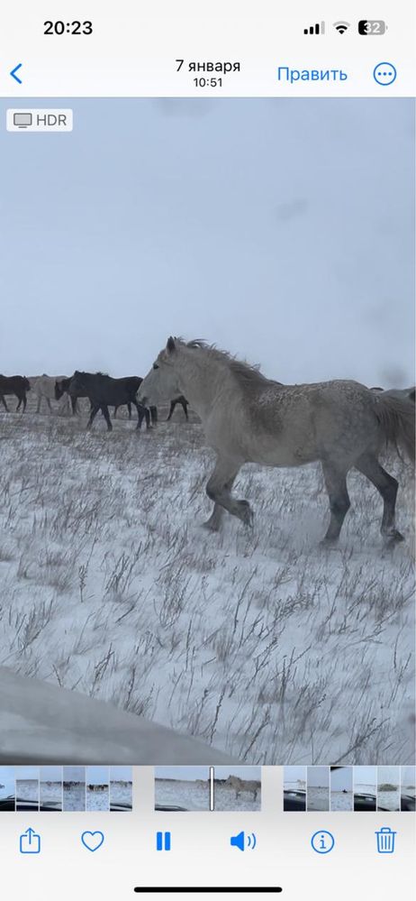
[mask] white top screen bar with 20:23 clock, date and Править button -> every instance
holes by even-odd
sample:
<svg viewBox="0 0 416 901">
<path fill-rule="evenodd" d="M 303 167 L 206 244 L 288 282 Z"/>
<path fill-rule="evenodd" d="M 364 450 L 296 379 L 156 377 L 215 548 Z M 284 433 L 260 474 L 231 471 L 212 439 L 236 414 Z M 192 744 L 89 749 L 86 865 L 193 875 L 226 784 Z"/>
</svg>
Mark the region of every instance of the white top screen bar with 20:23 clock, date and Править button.
<svg viewBox="0 0 416 901">
<path fill-rule="evenodd" d="M 303 0 L 29 0 L 2 14 L 2 97 L 412 97 L 411 10 Z"/>
</svg>

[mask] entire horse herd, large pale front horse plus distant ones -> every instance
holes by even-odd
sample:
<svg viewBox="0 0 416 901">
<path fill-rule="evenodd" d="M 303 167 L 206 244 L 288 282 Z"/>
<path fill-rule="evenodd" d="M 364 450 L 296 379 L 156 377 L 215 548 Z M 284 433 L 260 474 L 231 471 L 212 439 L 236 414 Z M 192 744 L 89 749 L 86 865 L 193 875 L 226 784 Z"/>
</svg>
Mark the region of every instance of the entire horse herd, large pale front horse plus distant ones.
<svg viewBox="0 0 416 901">
<path fill-rule="evenodd" d="M 101 409 L 111 430 L 109 406 L 115 411 L 122 404 L 130 410 L 134 406 L 137 428 L 143 418 L 149 428 L 157 421 L 156 405 L 160 401 L 171 401 L 167 418 L 171 418 L 176 403 L 182 404 L 187 418 L 189 403 L 201 418 L 206 444 L 216 455 L 206 484 L 206 493 L 213 501 L 212 515 L 204 523 L 208 529 L 220 529 L 225 510 L 251 526 L 249 501 L 232 494 L 244 464 L 293 467 L 320 462 L 330 506 L 326 544 L 338 540 L 348 512 L 347 476 L 351 469 L 362 473 L 381 495 L 385 544 L 403 540 L 395 526 L 398 482 L 386 472 L 379 457 L 386 446 L 391 446 L 414 464 L 414 388 L 384 391 L 346 379 L 286 385 L 267 379 L 258 367 L 214 345 L 173 337 L 168 338 L 144 379 L 113 379 L 101 372 L 78 371 L 71 378 L 41 376 L 33 385 L 38 409 L 45 385 L 56 399 L 66 393 L 73 413 L 78 398 L 89 399 L 87 428 Z M 5 395 L 12 393 L 18 399 L 17 409 L 23 404 L 24 410 L 30 388 L 23 376 L 0 376 L 5 409 Z"/>
</svg>

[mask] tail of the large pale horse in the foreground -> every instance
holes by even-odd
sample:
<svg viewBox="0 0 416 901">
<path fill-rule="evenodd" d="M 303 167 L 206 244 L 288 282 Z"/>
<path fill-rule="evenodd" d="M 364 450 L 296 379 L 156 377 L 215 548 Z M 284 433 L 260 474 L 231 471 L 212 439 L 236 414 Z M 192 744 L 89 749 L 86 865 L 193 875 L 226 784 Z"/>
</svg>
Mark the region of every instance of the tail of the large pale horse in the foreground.
<svg viewBox="0 0 416 901">
<path fill-rule="evenodd" d="M 415 403 L 409 391 L 383 391 L 376 395 L 375 415 L 386 444 L 404 453 L 411 464 L 415 460 Z"/>
</svg>

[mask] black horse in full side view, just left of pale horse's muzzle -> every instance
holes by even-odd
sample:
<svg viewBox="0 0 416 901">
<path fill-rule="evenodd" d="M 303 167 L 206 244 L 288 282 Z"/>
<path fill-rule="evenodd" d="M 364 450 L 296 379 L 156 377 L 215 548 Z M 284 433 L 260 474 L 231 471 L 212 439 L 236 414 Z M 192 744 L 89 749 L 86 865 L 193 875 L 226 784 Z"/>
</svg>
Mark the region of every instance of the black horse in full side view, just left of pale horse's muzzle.
<svg viewBox="0 0 416 901">
<path fill-rule="evenodd" d="M 85 392 L 86 397 L 91 402 L 91 411 L 86 428 L 91 428 L 98 410 L 101 409 L 107 429 L 112 431 L 113 426 L 108 412 L 109 406 L 122 407 L 123 404 L 131 403 L 137 409 L 137 428 L 140 428 L 143 418 L 146 418 L 146 426 L 150 428 L 149 409 L 142 407 L 136 400 L 137 391 L 142 380 L 131 375 L 124 379 L 113 379 L 110 375 L 104 375 L 103 372 L 74 372 L 69 384 L 68 394 L 76 394 L 80 396 L 81 391 Z"/>
</svg>

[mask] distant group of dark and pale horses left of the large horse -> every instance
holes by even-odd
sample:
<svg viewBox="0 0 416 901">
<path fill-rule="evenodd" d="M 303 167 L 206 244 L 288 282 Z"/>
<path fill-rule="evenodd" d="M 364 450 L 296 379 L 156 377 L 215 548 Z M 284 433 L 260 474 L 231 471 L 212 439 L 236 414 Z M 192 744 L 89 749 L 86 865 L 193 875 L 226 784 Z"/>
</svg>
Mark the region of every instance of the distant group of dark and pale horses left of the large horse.
<svg viewBox="0 0 416 901">
<path fill-rule="evenodd" d="M 113 428 L 108 408 L 113 407 L 113 415 L 116 418 L 119 407 L 126 405 L 129 418 L 131 418 L 131 407 L 135 407 L 137 410 L 137 428 L 141 428 L 143 419 L 146 420 L 147 428 L 151 428 L 156 426 L 158 422 L 158 408 L 155 405 L 148 408 L 138 403 L 136 395 L 142 381 L 140 376 L 136 375 L 122 379 L 113 379 L 102 372 L 79 372 L 78 370 L 69 377 L 54 377 L 43 373 L 43 375 L 32 380 L 23 375 L 0 375 L 0 400 L 8 412 L 5 398 L 14 395 L 18 400 L 16 410 L 23 406 L 24 412 L 27 404 L 27 393 L 32 391 L 37 398 L 36 412 L 40 413 L 42 402 L 46 403 L 49 411 L 52 412 L 50 401 L 61 400 L 61 398 L 66 397 L 68 399 L 68 407 L 72 411 L 72 415 L 75 416 L 78 412 L 77 400 L 87 398 L 90 401 L 90 414 L 86 428 L 91 428 L 97 412 L 101 409 L 108 431 L 111 431 Z M 184 410 L 185 418 L 188 419 L 189 404 L 185 397 L 180 394 L 170 400 L 167 420 L 172 418 L 176 404 L 180 404 Z"/>
</svg>

